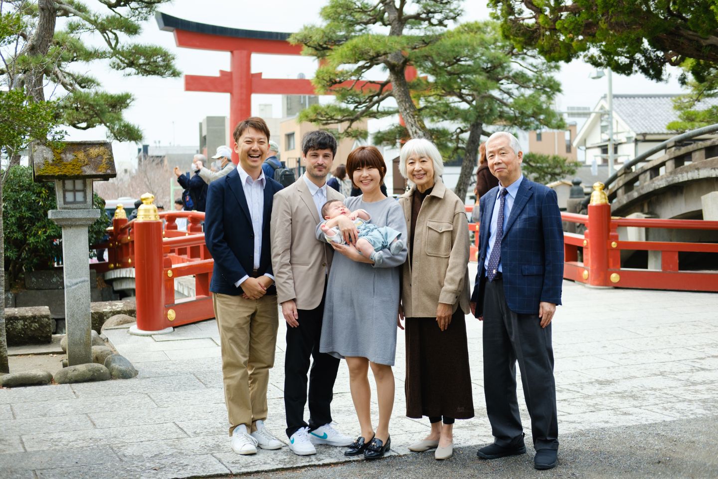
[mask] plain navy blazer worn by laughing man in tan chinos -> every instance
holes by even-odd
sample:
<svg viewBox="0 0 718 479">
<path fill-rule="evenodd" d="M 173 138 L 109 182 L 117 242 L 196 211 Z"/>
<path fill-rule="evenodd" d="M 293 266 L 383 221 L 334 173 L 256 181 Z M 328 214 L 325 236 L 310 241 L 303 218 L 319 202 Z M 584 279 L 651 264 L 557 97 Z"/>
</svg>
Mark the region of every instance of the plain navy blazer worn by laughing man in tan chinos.
<svg viewBox="0 0 718 479">
<path fill-rule="evenodd" d="M 264 217 L 258 274 L 273 274 L 269 238 L 269 220 L 274 193 L 282 186 L 266 178 L 264 181 Z M 215 259 L 210 291 L 237 296 L 243 293 L 234 284 L 254 269 L 254 229 L 249 215 L 247 198 L 241 185 L 238 169 L 210 183 L 205 212 L 205 241 Z M 276 294 L 274 284 L 267 294 Z"/>
</svg>

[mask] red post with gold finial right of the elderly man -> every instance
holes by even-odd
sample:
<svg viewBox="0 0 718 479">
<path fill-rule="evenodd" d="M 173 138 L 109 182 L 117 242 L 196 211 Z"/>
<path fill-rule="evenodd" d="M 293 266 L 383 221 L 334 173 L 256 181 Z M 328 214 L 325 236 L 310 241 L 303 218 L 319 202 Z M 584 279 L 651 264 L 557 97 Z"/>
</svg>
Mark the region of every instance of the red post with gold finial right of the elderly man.
<svg viewBox="0 0 718 479">
<path fill-rule="evenodd" d="M 588 284 L 591 286 L 610 286 L 608 280 L 608 238 L 610 236 L 611 205 L 603 191 L 603 183 L 596 182 L 588 205 L 589 271 Z"/>
</svg>

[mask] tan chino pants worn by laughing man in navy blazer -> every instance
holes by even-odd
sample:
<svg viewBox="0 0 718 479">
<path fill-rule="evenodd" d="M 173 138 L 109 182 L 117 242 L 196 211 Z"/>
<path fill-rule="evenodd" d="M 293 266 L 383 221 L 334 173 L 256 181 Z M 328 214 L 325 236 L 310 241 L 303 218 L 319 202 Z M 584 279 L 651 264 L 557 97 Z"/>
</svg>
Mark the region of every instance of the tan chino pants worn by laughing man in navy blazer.
<svg viewBox="0 0 718 479">
<path fill-rule="evenodd" d="M 229 434 L 239 424 L 251 432 L 255 421 L 267 417 L 269 369 L 279 328 L 276 294 L 244 299 L 213 293 L 212 302 L 220 330 Z"/>
</svg>

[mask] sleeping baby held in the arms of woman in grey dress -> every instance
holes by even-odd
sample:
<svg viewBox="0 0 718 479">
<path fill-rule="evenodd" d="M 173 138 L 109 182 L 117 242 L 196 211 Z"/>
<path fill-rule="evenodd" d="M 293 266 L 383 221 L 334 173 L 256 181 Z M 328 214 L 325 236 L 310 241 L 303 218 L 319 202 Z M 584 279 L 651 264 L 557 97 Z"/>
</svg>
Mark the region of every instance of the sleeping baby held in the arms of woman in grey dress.
<svg viewBox="0 0 718 479">
<path fill-rule="evenodd" d="M 337 228 L 336 218 L 346 216 L 354 222 L 359 236 L 356 242 L 357 251 L 368 256 L 374 264 L 381 264 L 383 253 L 388 249 L 391 254 L 397 254 L 404 248 L 404 241 L 399 237 L 401 233 L 388 226 L 377 226 L 369 223 L 371 216 L 365 210 L 349 211 L 340 200 L 330 200 L 322 206 L 322 216 L 326 220 L 321 226 L 324 237 L 330 243 L 344 244 L 344 238 Z"/>
</svg>

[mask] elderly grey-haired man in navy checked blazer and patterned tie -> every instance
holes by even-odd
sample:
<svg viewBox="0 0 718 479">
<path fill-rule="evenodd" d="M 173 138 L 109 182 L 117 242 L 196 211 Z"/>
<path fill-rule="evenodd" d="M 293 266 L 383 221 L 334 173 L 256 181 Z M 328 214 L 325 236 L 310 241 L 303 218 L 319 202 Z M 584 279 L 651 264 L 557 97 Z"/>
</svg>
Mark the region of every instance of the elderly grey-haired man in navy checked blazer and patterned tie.
<svg viewBox="0 0 718 479">
<path fill-rule="evenodd" d="M 483 319 L 484 394 L 495 441 L 477 455 L 523 454 L 516 399 L 516 362 L 531 415 L 534 467 L 556 465 L 554 350 L 551 319 L 561 304 L 564 233 L 556 192 L 521 174 L 523 153 L 512 134 L 486 141 L 486 157 L 499 185 L 480 200 L 479 269 L 471 310 Z"/>
</svg>

